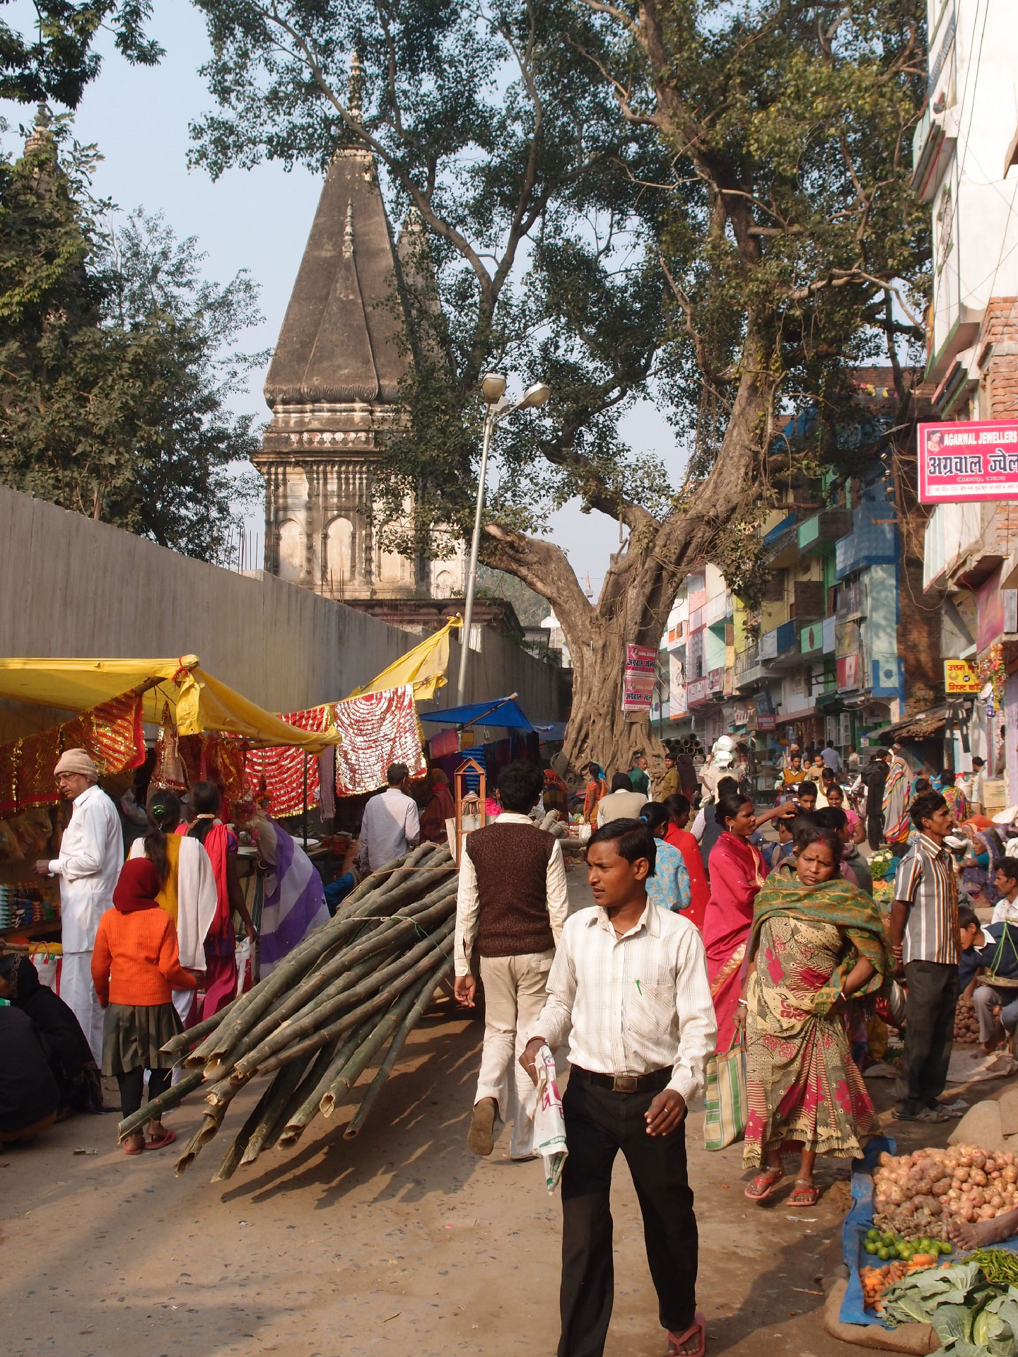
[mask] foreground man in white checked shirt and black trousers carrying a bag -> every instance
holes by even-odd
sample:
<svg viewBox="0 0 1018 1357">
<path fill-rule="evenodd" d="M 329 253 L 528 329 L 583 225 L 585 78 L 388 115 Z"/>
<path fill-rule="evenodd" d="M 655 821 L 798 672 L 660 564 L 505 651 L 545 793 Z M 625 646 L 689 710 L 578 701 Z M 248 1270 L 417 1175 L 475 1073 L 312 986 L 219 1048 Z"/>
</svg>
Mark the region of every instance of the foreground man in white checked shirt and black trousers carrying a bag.
<svg viewBox="0 0 1018 1357">
<path fill-rule="evenodd" d="M 685 1164 L 685 1110 L 703 1083 L 717 1026 L 699 931 L 647 901 L 654 836 L 612 820 L 586 849 L 592 909 L 562 930 L 548 1000 L 520 1063 L 535 1077 L 542 1045 L 570 1041 L 562 1099 L 562 1337 L 558 1357 L 601 1357 L 614 1300 L 612 1163 L 619 1151 L 643 1215 L 647 1263 L 668 1357 L 702 1357 L 696 1217 Z"/>
</svg>

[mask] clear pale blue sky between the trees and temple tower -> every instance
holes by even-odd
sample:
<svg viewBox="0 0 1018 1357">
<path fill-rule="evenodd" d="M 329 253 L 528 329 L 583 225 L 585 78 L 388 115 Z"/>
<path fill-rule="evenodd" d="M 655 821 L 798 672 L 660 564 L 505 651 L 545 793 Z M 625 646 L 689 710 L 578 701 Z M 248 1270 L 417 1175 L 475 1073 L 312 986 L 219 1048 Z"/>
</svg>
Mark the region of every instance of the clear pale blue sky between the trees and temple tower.
<svg viewBox="0 0 1018 1357">
<path fill-rule="evenodd" d="M 246 337 L 250 350 L 269 349 L 286 309 L 311 221 L 320 180 L 305 170 L 289 174 L 280 166 L 231 170 L 213 183 L 204 170 L 189 171 L 187 123 L 212 107 L 198 66 L 208 54 L 202 16 L 183 0 L 156 0 L 152 31 L 166 47 L 155 68 L 130 66 L 105 43 L 107 56 L 96 81 L 86 91 L 75 119 L 80 142 L 96 142 L 103 161 L 95 191 L 125 212 L 144 206 L 162 212 L 179 237 L 197 236 L 206 251 L 208 275 L 225 282 L 239 269 L 248 269 L 261 286 L 265 322 Z M 31 23 L 33 11 L 23 3 L 7 9 L 14 24 Z M 100 46 L 100 50 L 103 47 Z M 11 123 L 8 151 L 18 144 L 19 123 L 31 122 L 34 110 L 0 103 Z M 255 375 L 247 400 L 239 408 L 267 418 L 262 399 L 263 373 Z M 523 417 L 520 417 L 523 418 Z M 679 479 L 681 459 L 675 436 L 650 404 L 624 422 L 626 437 L 657 451 Z M 261 528 L 261 522 L 258 524 Z M 589 574 L 595 593 L 619 548 L 619 529 L 601 514 L 581 514 L 577 505 L 563 509 L 554 522 L 554 537 L 569 551 L 584 585 Z"/>
</svg>

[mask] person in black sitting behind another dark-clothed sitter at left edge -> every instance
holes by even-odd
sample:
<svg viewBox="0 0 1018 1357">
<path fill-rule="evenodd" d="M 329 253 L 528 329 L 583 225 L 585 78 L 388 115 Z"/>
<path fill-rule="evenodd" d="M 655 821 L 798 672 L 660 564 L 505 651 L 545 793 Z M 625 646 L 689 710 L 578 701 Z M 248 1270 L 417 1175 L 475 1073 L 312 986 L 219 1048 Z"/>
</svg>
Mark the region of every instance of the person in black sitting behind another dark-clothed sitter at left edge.
<svg viewBox="0 0 1018 1357">
<path fill-rule="evenodd" d="M 102 1111 L 99 1067 L 73 1010 L 39 980 L 23 953 L 0 955 L 0 999 L 35 1023 L 42 1034 L 53 1077 L 60 1090 L 60 1118 L 76 1111 Z"/>
</svg>

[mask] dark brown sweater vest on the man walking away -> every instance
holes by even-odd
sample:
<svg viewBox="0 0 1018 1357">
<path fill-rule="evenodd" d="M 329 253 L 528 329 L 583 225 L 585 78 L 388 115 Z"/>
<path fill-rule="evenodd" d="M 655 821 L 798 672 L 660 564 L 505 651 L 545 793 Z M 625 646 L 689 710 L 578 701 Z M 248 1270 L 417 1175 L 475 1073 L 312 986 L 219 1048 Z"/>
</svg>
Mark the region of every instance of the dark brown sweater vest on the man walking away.
<svg viewBox="0 0 1018 1357">
<path fill-rule="evenodd" d="M 467 836 L 478 875 L 478 953 L 520 957 L 555 946 L 547 871 L 555 840 L 536 825 L 485 825 Z"/>
</svg>

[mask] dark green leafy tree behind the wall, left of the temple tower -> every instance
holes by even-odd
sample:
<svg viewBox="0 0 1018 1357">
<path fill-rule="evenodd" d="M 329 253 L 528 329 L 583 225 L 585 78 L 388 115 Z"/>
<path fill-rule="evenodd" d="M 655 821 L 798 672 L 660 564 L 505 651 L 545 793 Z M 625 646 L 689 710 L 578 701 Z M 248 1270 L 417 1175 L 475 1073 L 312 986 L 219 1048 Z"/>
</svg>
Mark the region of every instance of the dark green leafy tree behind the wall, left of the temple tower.
<svg viewBox="0 0 1018 1357">
<path fill-rule="evenodd" d="M 0 479 L 214 559 L 257 480 L 231 474 L 257 438 L 227 410 L 265 360 L 233 351 L 257 289 L 204 282 L 159 217 L 111 233 L 95 153 L 61 142 L 37 129 L 0 163 Z"/>
</svg>

